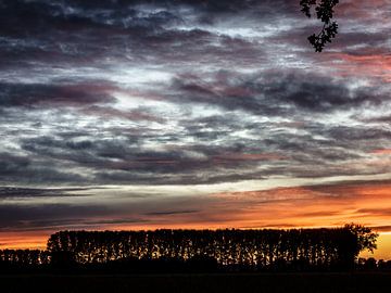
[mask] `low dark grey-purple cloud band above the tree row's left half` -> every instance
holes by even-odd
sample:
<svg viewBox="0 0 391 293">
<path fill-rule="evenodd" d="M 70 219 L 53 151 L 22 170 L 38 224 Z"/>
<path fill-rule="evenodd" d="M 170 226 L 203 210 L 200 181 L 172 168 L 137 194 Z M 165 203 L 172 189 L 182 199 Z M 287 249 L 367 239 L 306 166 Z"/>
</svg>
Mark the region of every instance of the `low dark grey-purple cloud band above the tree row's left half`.
<svg viewBox="0 0 391 293">
<path fill-rule="evenodd" d="M 4 188 L 5 189 L 5 188 Z M 172 215 L 191 215 L 200 212 L 204 203 L 199 201 L 198 196 L 176 196 L 169 199 L 164 194 L 155 201 L 149 196 L 137 196 L 140 192 L 131 195 L 131 192 L 124 193 L 124 196 L 115 196 L 105 200 L 104 196 L 94 194 L 94 204 L 86 199 L 75 199 L 73 203 L 67 203 L 62 199 L 62 203 L 55 203 L 59 200 L 58 194 L 45 193 L 50 189 L 40 192 L 39 189 L 20 189 L 20 192 L 28 193 L 29 201 L 13 196 L 8 199 L 8 203 L 0 202 L 0 232 L 7 231 L 37 231 L 49 230 L 56 231 L 61 229 L 98 229 L 102 226 L 122 226 L 138 224 L 162 224 L 166 216 Z M 88 191 L 97 192 L 92 189 L 61 189 L 63 192 Z M 108 189 L 108 191 L 110 188 Z M 36 193 L 34 193 L 34 191 Z M 45 193 L 45 195 L 42 195 Z M 45 199 L 42 199 L 45 196 Z M 34 201 L 34 198 L 36 198 Z M 122 203 L 116 202 L 122 198 Z M 37 204 L 37 200 L 43 200 Z M 177 209 L 173 209 L 175 205 Z M 185 209 L 182 206 L 191 207 Z M 193 208 L 197 206 L 197 208 Z"/>
</svg>

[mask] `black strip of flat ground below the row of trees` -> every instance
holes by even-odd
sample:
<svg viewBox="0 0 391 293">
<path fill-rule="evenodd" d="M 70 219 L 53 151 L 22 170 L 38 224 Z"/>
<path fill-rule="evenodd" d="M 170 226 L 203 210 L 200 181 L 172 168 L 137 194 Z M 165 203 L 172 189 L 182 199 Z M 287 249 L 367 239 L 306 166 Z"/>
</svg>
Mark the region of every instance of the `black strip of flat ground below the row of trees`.
<svg viewBox="0 0 391 293">
<path fill-rule="evenodd" d="M 391 273 L 0 275 L 0 292 L 391 292 Z"/>
</svg>

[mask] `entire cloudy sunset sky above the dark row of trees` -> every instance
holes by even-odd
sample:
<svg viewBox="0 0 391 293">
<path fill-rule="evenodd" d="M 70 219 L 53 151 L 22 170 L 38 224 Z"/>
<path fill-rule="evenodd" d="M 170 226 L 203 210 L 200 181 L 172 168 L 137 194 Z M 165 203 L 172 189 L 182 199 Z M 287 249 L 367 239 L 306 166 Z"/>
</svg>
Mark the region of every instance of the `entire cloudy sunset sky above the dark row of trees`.
<svg viewBox="0 0 391 293">
<path fill-rule="evenodd" d="M 0 0 L 0 249 L 355 222 L 391 259 L 391 1 Z"/>
</svg>

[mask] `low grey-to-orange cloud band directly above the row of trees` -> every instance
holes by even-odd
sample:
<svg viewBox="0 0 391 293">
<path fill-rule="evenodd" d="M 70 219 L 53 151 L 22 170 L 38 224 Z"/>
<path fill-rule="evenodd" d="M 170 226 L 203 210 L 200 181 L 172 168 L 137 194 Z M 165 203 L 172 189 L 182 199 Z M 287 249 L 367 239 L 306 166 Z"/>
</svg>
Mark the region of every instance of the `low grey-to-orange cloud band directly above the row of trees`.
<svg viewBox="0 0 391 293">
<path fill-rule="evenodd" d="M 80 193 L 71 191 L 74 192 Z M 102 196 L 104 193 L 111 193 L 110 188 L 99 193 L 93 189 L 81 190 L 81 194 L 93 192 L 93 204 L 77 198 L 72 198 L 73 204 L 2 204 L 1 229 L 139 229 L 177 225 L 181 225 L 182 228 L 205 225 L 220 228 L 262 228 L 282 227 L 286 222 L 290 222 L 290 227 L 318 227 L 351 221 L 375 227 L 384 226 L 390 215 L 390 201 L 387 199 L 390 192 L 389 181 L 337 182 L 262 191 L 206 193 L 202 196 L 171 196 L 168 193 L 161 193 L 154 200 L 150 196 Z M 157 188 L 156 192 L 163 190 Z M 124 195 L 126 194 L 125 192 Z M 379 196 L 383 200 L 376 201 Z M 55 199 L 56 195 L 53 194 L 51 198 Z"/>
</svg>

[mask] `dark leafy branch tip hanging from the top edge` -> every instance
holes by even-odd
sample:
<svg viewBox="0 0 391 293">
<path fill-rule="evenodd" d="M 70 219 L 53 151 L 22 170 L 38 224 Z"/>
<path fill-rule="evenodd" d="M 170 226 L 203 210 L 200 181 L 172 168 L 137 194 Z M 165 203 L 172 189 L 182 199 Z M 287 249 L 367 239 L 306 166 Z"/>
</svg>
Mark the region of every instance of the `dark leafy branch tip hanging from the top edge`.
<svg viewBox="0 0 391 293">
<path fill-rule="evenodd" d="M 321 52 L 327 42 L 338 34 L 338 24 L 332 22 L 333 9 L 339 3 L 339 0 L 301 0 L 300 5 L 302 12 L 311 17 L 313 15 L 312 9 L 315 7 L 316 17 L 321 21 L 323 28 L 319 34 L 313 34 L 308 37 L 310 43 L 315 48 L 316 52 Z"/>
</svg>

